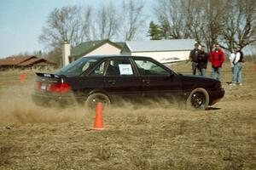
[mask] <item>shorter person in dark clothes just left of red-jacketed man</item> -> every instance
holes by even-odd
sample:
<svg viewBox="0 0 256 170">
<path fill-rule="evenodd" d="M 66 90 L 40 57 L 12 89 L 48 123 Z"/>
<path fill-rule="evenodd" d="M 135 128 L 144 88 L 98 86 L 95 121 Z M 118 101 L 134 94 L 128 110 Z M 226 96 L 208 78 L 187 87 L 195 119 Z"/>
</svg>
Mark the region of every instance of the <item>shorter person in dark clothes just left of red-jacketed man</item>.
<svg viewBox="0 0 256 170">
<path fill-rule="evenodd" d="M 205 46 L 201 46 L 201 53 L 198 56 L 198 68 L 200 76 L 206 77 L 208 54 L 205 51 Z"/>
</svg>

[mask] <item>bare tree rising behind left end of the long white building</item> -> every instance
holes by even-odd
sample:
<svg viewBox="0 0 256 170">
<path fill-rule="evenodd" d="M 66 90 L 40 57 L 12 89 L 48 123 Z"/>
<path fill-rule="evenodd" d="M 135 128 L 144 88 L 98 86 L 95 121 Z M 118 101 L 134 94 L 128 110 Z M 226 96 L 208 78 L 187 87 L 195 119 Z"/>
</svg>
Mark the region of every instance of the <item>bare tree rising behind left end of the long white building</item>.
<svg viewBox="0 0 256 170">
<path fill-rule="evenodd" d="M 137 38 L 139 32 L 145 27 L 146 15 L 143 13 L 145 5 L 142 0 L 123 0 L 120 11 L 120 35 L 127 41 Z"/>
</svg>

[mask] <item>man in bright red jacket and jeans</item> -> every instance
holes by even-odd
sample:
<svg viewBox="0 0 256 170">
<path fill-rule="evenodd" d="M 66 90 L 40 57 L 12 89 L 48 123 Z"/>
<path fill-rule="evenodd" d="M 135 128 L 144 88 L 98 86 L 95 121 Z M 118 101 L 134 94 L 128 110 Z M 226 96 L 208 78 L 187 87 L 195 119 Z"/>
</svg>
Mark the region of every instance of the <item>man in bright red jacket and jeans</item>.
<svg viewBox="0 0 256 170">
<path fill-rule="evenodd" d="M 219 47 L 219 44 L 215 44 L 215 49 L 210 54 L 210 62 L 212 63 L 212 78 L 217 80 L 221 77 L 222 64 L 224 63 L 224 52 Z"/>
</svg>

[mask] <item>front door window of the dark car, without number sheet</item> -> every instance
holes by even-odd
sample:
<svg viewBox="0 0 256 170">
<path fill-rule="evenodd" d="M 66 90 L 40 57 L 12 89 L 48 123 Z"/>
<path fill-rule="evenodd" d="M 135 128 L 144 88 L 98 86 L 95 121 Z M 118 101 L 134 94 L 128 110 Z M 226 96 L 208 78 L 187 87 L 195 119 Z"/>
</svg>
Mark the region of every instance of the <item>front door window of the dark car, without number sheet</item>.
<svg viewBox="0 0 256 170">
<path fill-rule="evenodd" d="M 166 71 L 161 65 L 157 65 L 157 63 L 154 63 L 147 59 L 134 59 L 138 71 L 143 76 L 157 76 L 157 75 L 169 75 L 170 72 Z"/>
</svg>

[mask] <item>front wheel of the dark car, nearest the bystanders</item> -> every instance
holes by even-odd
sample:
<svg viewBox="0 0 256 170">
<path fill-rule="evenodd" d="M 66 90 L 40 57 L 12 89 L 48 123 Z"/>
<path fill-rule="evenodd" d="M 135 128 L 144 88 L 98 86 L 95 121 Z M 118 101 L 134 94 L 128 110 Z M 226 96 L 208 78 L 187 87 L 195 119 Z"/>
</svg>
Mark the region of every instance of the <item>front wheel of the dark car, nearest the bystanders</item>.
<svg viewBox="0 0 256 170">
<path fill-rule="evenodd" d="M 209 94 L 204 88 L 195 88 L 186 102 L 188 109 L 206 110 L 209 105 Z"/>
</svg>

